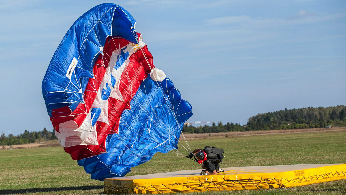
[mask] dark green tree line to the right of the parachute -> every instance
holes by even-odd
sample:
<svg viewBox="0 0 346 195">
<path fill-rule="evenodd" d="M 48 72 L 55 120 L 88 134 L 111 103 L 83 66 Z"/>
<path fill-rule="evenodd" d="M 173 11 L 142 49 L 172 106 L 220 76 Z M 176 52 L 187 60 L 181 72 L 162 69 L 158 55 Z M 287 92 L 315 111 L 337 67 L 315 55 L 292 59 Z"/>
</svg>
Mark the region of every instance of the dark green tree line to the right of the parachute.
<svg viewBox="0 0 346 195">
<path fill-rule="evenodd" d="M 219 133 L 231 131 L 258 131 L 258 130 L 285 130 L 300 128 L 324 128 L 326 126 L 345 127 L 346 107 L 343 105 L 333 107 L 308 107 L 299 109 L 286 109 L 276 112 L 257 114 L 248 119 L 246 125 L 227 123 L 221 121 L 212 124 L 194 127 L 187 124 L 183 133 Z"/>
</svg>

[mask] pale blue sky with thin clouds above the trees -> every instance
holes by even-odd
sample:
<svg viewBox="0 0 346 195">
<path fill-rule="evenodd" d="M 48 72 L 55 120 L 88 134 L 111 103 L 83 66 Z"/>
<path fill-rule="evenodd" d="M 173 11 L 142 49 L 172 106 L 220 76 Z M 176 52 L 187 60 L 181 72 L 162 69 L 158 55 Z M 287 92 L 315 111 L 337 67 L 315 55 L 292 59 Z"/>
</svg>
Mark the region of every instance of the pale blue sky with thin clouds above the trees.
<svg viewBox="0 0 346 195">
<path fill-rule="evenodd" d="M 193 107 L 193 121 L 346 104 L 346 1 L 110 1 Z M 0 1 L 0 132 L 52 130 L 41 83 L 67 30 L 104 1 Z"/>
</svg>

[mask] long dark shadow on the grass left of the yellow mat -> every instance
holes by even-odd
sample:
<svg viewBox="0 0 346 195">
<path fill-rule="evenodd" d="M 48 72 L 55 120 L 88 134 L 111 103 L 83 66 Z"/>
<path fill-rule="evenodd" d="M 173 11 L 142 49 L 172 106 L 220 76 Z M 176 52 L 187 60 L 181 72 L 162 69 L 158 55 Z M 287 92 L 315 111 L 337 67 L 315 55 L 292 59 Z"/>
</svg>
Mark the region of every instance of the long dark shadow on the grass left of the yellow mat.
<svg viewBox="0 0 346 195">
<path fill-rule="evenodd" d="M 0 194 L 22 194 L 36 192 L 58 192 L 66 190 L 90 190 L 104 189 L 104 186 L 77 186 L 77 187 L 55 187 L 55 188 L 28 188 L 28 189 L 1 189 Z M 103 192 L 100 192 L 100 194 Z"/>
</svg>

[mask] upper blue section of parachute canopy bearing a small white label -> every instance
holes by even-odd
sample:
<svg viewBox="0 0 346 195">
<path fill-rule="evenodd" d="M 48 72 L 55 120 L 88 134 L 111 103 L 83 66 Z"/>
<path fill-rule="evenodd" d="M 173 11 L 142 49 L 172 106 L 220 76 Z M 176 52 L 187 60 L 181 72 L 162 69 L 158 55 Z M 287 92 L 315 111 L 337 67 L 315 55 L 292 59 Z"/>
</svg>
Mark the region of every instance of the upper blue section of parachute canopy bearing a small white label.
<svg viewBox="0 0 346 195">
<path fill-rule="evenodd" d="M 42 82 L 50 116 L 52 109 L 69 106 L 74 110 L 83 103 L 86 83 L 93 78 L 93 65 L 106 38 L 121 37 L 137 43 L 135 23 L 128 11 L 112 3 L 95 6 L 75 21 L 55 51 Z M 67 76 L 74 58 L 77 64 Z"/>
</svg>

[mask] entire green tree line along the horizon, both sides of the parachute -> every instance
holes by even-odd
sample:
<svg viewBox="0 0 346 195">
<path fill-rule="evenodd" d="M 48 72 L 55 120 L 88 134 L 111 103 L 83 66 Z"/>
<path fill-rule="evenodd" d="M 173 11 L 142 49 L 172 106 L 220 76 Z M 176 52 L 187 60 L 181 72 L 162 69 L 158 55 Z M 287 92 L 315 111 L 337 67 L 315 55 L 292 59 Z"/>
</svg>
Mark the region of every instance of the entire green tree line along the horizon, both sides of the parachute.
<svg viewBox="0 0 346 195">
<path fill-rule="evenodd" d="M 217 124 L 212 123 L 211 126 L 192 126 L 185 124 L 183 133 L 220 133 L 231 131 L 258 131 L 258 130 L 284 130 L 284 129 L 300 129 L 300 128 L 324 128 L 328 125 L 334 127 L 346 127 L 346 106 L 333 107 L 308 107 L 299 109 L 286 109 L 276 112 L 267 112 L 257 114 L 248 119 L 246 125 L 226 123 L 222 121 Z M 57 140 L 55 130 L 52 132 L 43 128 L 43 131 L 29 132 L 27 130 L 18 136 L 13 134 L 5 135 L 2 132 L 0 136 L 1 145 L 14 145 L 34 143 L 40 140 Z"/>
</svg>

